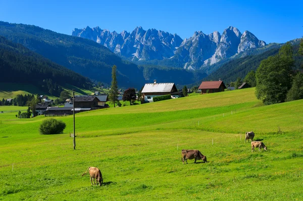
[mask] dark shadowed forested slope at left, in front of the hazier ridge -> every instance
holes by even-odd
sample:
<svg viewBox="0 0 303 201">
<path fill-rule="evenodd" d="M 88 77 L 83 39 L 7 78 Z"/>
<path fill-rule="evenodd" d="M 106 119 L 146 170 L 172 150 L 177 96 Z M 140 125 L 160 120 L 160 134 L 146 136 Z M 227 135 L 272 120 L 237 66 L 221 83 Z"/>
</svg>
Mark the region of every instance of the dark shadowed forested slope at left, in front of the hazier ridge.
<svg viewBox="0 0 303 201">
<path fill-rule="evenodd" d="M 90 80 L 41 55 L 0 36 L 2 83 L 31 84 L 45 93 L 59 96 L 66 84 L 88 89 Z"/>
</svg>

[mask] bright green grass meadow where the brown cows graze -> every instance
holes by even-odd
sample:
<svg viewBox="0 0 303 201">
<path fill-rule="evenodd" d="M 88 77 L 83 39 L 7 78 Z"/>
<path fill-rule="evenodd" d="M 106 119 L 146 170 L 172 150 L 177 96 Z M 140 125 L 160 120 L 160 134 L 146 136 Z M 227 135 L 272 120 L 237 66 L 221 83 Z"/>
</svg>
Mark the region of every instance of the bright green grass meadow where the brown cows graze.
<svg viewBox="0 0 303 201">
<path fill-rule="evenodd" d="M 254 92 L 79 113 L 76 150 L 72 116 L 56 117 L 64 134 L 45 136 L 46 117 L 0 113 L 0 199 L 302 200 L 303 100 L 263 106 Z M 251 152 L 245 131 L 268 150 Z M 182 165 L 182 149 L 199 149 L 208 163 Z M 104 185 L 81 177 L 88 167 L 102 171 Z"/>
</svg>

